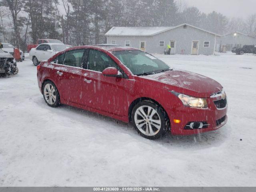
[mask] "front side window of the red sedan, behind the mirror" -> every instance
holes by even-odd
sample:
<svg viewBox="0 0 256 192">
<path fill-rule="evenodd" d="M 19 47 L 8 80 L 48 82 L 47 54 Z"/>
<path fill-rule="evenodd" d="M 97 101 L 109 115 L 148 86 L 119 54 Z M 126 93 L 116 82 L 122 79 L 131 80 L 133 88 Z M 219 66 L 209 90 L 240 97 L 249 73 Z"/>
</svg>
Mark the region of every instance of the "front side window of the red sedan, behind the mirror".
<svg viewBox="0 0 256 192">
<path fill-rule="evenodd" d="M 102 72 L 108 67 L 115 67 L 120 70 L 108 55 L 97 50 L 90 50 L 86 69 Z"/>
</svg>

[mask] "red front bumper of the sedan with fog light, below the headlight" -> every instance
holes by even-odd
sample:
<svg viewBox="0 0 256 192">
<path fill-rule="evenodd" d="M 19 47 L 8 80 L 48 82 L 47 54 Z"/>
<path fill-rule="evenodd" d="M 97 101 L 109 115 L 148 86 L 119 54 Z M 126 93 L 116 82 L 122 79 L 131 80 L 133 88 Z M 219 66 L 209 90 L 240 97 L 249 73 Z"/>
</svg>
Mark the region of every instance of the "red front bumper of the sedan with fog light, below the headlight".
<svg viewBox="0 0 256 192">
<path fill-rule="evenodd" d="M 198 134 L 207 131 L 213 131 L 222 127 L 228 121 L 228 104 L 224 108 L 216 108 L 214 98 L 207 98 L 208 108 L 191 108 L 180 106 L 175 109 L 167 110 L 170 118 L 171 133 L 176 135 Z M 180 123 L 174 123 L 174 119 L 180 120 Z M 220 124 L 218 120 L 224 119 Z M 187 129 L 189 122 L 207 122 L 203 128 Z"/>
</svg>

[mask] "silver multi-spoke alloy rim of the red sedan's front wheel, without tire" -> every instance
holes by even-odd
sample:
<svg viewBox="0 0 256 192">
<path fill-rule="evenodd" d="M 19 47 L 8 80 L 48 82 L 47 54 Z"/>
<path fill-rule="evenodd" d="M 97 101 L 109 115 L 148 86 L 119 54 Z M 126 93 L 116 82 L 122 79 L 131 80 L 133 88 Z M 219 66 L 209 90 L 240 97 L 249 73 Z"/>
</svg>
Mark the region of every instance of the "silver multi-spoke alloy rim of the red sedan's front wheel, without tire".
<svg viewBox="0 0 256 192">
<path fill-rule="evenodd" d="M 146 136 L 156 135 L 161 128 L 158 112 L 150 106 L 140 106 L 134 114 L 134 122 L 140 132 Z"/>
</svg>

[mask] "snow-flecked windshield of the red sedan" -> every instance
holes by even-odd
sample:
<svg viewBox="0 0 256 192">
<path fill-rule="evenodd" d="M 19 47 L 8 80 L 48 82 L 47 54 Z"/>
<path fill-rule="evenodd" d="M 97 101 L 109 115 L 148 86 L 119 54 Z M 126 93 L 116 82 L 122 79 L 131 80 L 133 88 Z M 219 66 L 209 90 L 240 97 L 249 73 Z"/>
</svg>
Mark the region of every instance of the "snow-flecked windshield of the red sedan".
<svg viewBox="0 0 256 192">
<path fill-rule="evenodd" d="M 134 75 L 149 75 L 171 70 L 170 67 L 154 56 L 140 50 L 112 52 Z"/>
</svg>

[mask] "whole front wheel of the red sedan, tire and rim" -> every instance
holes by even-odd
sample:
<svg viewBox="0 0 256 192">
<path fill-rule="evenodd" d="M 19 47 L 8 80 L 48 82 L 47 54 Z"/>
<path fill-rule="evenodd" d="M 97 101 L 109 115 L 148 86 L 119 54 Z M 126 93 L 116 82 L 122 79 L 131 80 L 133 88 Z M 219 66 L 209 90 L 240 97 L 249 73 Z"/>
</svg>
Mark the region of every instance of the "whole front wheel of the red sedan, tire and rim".
<svg viewBox="0 0 256 192">
<path fill-rule="evenodd" d="M 166 134 L 169 120 L 162 107 L 151 101 L 142 101 L 132 110 L 132 124 L 141 136 L 153 140 Z"/>
</svg>

